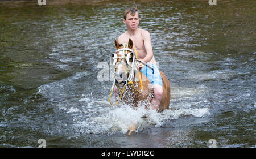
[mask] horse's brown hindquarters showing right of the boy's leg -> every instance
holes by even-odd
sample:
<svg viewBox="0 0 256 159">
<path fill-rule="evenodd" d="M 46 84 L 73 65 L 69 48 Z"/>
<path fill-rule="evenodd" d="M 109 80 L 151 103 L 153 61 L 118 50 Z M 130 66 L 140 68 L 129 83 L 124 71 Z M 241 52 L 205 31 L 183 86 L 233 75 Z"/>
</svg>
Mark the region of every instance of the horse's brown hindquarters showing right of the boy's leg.
<svg viewBox="0 0 256 159">
<path fill-rule="evenodd" d="M 162 71 L 159 71 L 159 72 L 163 80 L 163 96 L 159 105 L 159 111 L 163 111 L 164 109 L 169 109 L 171 87 L 170 87 L 170 81 L 168 80 L 167 76 L 164 75 Z"/>
</svg>

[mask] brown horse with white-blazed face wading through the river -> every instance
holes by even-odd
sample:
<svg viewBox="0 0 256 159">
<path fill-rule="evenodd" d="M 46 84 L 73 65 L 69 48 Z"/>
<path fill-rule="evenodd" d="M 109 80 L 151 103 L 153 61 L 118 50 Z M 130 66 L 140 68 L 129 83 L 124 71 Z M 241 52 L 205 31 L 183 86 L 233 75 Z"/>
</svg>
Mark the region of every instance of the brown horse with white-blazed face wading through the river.
<svg viewBox="0 0 256 159">
<path fill-rule="evenodd" d="M 115 95 L 119 94 L 119 101 L 123 104 L 128 104 L 137 107 L 139 104 L 150 105 L 150 101 L 154 97 L 154 91 L 151 82 L 147 79 L 146 75 L 139 71 L 137 63 L 137 52 L 133 50 L 133 41 L 129 39 L 128 44 L 118 44 L 115 40 L 116 52 L 111 55 L 110 63 L 115 69 L 115 80 L 112 86 L 114 87 Z M 143 66 L 150 67 L 150 66 Z M 159 71 L 163 80 L 163 96 L 159 105 L 158 111 L 163 111 L 169 108 L 170 104 L 170 82 L 163 72 Z M 109 97 L 109 102 L 111 98 Z M 115 104 L 118 104 L 116 102 Z M 112 104 L 110 102 L 110 104 Z M 128 134 L 135 131 L 135 126 L 130 126 Z"/>
</svg>

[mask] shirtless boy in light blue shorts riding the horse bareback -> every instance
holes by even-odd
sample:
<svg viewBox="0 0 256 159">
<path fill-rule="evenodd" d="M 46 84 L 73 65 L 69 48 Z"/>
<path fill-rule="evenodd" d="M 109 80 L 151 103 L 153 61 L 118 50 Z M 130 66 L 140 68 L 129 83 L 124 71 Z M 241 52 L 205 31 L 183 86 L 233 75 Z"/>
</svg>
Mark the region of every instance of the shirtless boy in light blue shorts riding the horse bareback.
<svg viewBox="0 0 256 159">
<path fill-rule="evenodd" d="M 118 43 L 127 44 L 129 38 L 133 40 L 134 47 L 137 50 L 138 59 L 155 68 L 154 74 L 152 74 L 152 70 L 150 68 L 142 65 L 139 66 L 141 72 L 144 75 L 147 74 L 147 78 L 153 85 L 154 98 L 151 101 L 151 106 L 152 109 L 157 110 L 163 96 L 163 82 L 159 70 L 156 67 L 156 61 L 152 51 L 150 33 L 138 28 L 139 13 L 137 8 L 129 8 L 125 11 L 123 23 L 126 24 L 127 31 L 118 37 Z"/>
</svg>

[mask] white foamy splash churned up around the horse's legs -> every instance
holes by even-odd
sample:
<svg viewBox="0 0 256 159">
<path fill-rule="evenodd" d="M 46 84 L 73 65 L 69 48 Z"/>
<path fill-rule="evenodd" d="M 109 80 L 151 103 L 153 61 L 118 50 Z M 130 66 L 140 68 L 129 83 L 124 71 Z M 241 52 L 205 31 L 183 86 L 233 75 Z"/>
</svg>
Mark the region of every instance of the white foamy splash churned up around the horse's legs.
<svg viewBox="0 0 256 159">
<path fill-rule="evenodd" d="M 165 122 L 183 116 L 203 117 L 210 114 L 208 108 L 164 110 L 162 113 L 141 106 L 134 109 L 128 105 L 107 109 L 100 116 L 87 118 L 85 121 L 75 123 L 74 126 L 88 134 L 125 134 L 133 124 L 137 126 L 137 132 L 140 132 L 150 126 L 159 127 Z M 147 117 L 142 118 L 144 115 Z"/>
</svg>

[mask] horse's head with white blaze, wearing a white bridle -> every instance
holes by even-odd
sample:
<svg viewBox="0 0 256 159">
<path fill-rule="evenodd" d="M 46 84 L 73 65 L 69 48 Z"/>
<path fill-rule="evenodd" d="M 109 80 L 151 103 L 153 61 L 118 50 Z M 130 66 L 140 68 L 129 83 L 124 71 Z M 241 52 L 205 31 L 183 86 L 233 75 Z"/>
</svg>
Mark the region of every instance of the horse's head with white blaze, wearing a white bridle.
<svg viewBox="0 0 256 159">
<path fill-rule="evenodd" d="M 119 44 L 115 40 L 115 48 L 117 50 L 111 55 L 110 63 L 115 68 L 115 82 L 118 84 L 126 83 L 131 79 L 131 69 L 135 64 L 135 56 L 133 51 L 133 41 L 129 39 L 128 44 Z"/>
</svg>

